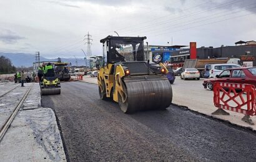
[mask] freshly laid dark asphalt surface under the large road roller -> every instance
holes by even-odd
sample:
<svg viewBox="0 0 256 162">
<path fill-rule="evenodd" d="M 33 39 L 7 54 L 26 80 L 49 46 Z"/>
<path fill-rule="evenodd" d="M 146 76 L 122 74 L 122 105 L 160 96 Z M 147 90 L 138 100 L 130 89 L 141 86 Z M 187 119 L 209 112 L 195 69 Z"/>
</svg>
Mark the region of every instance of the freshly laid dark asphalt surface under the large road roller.
<svg viewBox="0 0 256 162">
<path fill-rule="evenodd" d="M 91 83 L 61 83 L 42 105 L 56 112 L 70 161 L 256 160 L 252 131 L 175 106 L 127 115 Z"/>
</svg>

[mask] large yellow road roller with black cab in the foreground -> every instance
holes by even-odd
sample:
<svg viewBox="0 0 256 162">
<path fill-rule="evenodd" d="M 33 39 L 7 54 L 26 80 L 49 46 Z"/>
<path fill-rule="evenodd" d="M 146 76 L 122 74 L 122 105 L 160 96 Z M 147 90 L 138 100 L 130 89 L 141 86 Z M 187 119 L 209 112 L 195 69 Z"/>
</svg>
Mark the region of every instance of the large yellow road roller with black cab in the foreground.
<svg viewBox="0 0 256 162">
<path fill-rule="evenodd" d="M 114 100 L 124 113 L 165 110 L 172 103 L 172 87 L 164 64 L 144 60 L 146 37 L 101 39 L 104 65 L 97 82 L 102 100 Z"/>
</svg>

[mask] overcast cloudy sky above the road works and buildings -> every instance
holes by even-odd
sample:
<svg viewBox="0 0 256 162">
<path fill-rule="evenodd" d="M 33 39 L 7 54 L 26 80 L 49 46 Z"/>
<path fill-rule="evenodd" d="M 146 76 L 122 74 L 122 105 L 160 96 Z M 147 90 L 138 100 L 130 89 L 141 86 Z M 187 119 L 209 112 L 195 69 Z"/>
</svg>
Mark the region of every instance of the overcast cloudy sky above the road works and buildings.
<svg viewBox="0 0 256 162">
<path fill-rule="evenodd" d="M 0 52 L 48 58 L 92 55 L 108 36 L 147 36 L 154 45 L 234 45 L 256 41 L 255 0 L 0 0 Z"/>
</svg>

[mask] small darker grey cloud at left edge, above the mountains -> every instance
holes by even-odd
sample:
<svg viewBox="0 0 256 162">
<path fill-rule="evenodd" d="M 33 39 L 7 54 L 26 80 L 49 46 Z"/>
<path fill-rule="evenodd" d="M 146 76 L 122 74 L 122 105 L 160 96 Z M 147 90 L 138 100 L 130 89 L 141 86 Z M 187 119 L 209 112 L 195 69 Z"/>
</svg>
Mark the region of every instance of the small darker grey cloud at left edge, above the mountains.
<svg viewBox="0 0 256 162">
<path fill-rule="evenodd" d="M 6 44 L 14 44 L 21 39 L 25 39 L 25 37 L 18 36 L 15 32 L 8 29 L 0 31 L 0 41 Z"/>
</svg>

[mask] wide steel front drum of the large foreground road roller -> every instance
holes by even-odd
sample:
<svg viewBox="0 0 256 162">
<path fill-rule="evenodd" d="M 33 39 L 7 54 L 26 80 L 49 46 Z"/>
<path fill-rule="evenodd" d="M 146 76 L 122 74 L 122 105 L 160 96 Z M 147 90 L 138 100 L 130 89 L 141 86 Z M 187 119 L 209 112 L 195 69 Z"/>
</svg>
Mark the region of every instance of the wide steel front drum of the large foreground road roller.
<svg viewBox="0 0 256 162">
<path fill-rule="evenodd" d="M 119 105 L 124 113 L 137 110 L 164 110 L 172 103 L 172 87 L 169 80 L 158 79 L 124 79 L 126 100 L 119 95 Z"/>
</svg>

